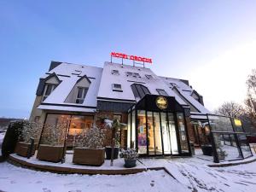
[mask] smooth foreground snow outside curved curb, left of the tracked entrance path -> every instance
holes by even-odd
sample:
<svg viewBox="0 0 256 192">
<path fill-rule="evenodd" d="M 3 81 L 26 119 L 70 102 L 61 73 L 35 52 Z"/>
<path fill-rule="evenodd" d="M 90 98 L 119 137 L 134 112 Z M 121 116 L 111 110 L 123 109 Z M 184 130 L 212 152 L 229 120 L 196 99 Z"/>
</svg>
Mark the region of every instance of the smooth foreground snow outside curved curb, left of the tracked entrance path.
<svg viewBox="0 0 256 192">
<path fill-rule="evenodd" d="M 190 191 L 164 171 L 125 176 L 62 175 L 36 172 L 0 163 L 0 191 L 6 192 L 100 192 L 100 191 Z"/>
</svg>

